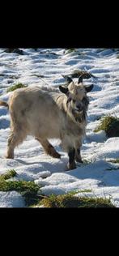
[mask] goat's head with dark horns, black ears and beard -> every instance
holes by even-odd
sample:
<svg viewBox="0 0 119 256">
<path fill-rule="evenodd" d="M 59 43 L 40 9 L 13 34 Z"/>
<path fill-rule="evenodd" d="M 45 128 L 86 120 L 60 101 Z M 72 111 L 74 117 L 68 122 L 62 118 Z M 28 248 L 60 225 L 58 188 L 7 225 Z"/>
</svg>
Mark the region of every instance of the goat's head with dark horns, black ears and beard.
<svg viewBox="0 0 119 256">
<path fill-rule="evenodd" d="M 87 92 L 91 92 L 93 84 L 86 87 L 82 77 L 79 77 L 78 83 L 74 83 L 70 77 L 67 77 L 67 81 L 69 83 L 67 87 L 59 86 L 60 91 L 67 96 L 67 105 L 75 115 L 83 113 L 83 110 L 86 112 L 89 104 Z"/>
</svg>

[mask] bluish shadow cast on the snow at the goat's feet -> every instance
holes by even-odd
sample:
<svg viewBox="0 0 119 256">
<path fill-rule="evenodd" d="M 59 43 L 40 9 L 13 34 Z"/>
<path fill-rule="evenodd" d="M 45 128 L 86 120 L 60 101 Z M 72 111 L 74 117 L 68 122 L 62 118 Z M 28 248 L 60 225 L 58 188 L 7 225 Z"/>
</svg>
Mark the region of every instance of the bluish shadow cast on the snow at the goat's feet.
<svg viewBox="0 0 119 256">
<path fill-rule="evenodd" d="M 63 157 L 58 163 L 53 164 L 49 162 L 37 161 L 28 163 L 24 160 L 17 159 L 20 164 L 31 165 L 31 164 L 40 164 L 39 167 L 34 166 L 34 173 L 49 171 L 51 175 L 53 173 L 65 173 L 72 177 L 76 177 L 79 180 L 92 179 L 99 181 L 98 186 L 119 186 L 119 169 L 109 170 L 112 168 L 112 164 L 107 163 L 106 161 L 97 160 L 95 163 L 90 164 L 78 164 L 77 169 L 66 170 L 66 164 L 68 162 L 68 157 Z M 104 168 L 101 166 L 105 164 Z M 41 168 L 41 166 L 43 168 Z M 112 174 L 113 172 L 113 174 Z M 113 175 L 113 178 L 112 178 Z M 118 177 L 118 178 L 117 178 Z"/>
</svg>

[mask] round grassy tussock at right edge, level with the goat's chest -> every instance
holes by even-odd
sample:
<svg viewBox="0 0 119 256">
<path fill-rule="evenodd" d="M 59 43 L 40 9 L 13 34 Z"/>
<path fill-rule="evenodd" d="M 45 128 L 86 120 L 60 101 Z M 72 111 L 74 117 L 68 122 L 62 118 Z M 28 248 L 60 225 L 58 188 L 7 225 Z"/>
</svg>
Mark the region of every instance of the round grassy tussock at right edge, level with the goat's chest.
<svg viewBox="0 0 119 256">
<path fill-rule="evenodd" d="M 102 117 L 100 125 L 94 130 L 98 132 L 104 130 L 108 138 L 119 136 L 119 118 L 113 116 Z"/>
</svg>

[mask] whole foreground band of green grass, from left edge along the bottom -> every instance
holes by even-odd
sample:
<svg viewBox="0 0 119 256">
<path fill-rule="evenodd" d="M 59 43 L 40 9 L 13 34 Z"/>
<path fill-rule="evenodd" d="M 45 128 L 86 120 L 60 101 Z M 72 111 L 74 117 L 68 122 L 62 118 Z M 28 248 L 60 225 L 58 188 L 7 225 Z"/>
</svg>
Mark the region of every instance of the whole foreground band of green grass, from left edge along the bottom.
<svg viewBox="0 0 119 256">
<path fill-rule="evenodd" d="M 0 191 L 17 191 L 23 195 L 26 207 L 114 207 L 110 199 L 76 197 L 76 193 L 88 193 L 91 190 L 70 191 L 68 194 L 45 196 L 34 181 L 6 181 L 16 176 L 14 169 L 0 175 Z"/>
</svg>

